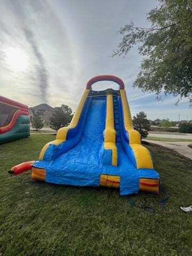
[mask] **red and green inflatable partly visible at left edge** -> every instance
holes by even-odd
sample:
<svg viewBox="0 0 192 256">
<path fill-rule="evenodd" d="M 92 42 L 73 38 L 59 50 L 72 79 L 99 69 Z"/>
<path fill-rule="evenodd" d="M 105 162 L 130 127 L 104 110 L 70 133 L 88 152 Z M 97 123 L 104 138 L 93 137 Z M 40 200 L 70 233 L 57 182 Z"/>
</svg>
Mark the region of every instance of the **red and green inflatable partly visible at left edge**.
<svg viewBox="0 0 192 256">
<path fill-rule="evenodd" d="M 30 135 L 28 106 L 0 96 L 0 144 Z"/>
</svg>

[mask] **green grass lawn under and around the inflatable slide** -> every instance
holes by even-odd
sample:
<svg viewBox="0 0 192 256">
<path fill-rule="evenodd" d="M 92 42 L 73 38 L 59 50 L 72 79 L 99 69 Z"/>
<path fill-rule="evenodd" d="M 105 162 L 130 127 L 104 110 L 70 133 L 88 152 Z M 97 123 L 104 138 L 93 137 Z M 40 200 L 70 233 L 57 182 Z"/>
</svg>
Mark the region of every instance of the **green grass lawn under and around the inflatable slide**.
<svg viewBox="0 0 192 256">
<path fill-rule="evenodd" d="M 170 194 L 127 197 L 108 188 L 57 186 L 30 181 L 30 172 L 10 177 L 10 167 L 37 159 L 53 135 L 0 145 L 0 255 L 192 255 L 192 161 L 170 149 L 147 145 Z"/>
</svg>

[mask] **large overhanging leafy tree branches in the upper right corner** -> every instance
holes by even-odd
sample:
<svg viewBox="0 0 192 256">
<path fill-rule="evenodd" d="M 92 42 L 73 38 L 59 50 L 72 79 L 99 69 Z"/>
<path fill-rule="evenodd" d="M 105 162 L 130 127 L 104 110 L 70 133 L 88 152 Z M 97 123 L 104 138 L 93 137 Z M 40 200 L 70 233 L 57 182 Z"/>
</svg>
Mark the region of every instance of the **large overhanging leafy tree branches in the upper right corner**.
<svg viewBox="0 0 192 256">
<path fill-rule="evenodd" d="M 150 28 L 135 27 L 131 21 L 120 28 L 122 40 L 114 55 L 127 54 L 139 43 L 145 57 L 133 84 L 144 92 L 173 94 L 178 101 L 189 99 L 192 106 L 192 2 L 158 0 L 159 5 L 147 13 Z"/>
</svg>

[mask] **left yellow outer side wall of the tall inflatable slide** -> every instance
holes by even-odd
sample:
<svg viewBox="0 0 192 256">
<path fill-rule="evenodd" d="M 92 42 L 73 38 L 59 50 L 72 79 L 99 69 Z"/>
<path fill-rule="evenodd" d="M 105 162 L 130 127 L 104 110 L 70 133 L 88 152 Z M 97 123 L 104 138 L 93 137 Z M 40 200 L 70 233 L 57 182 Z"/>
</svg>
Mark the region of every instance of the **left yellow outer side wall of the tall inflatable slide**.
<svg viewBox="0 0 192 256">
<path fill-rule="evenodd" d="M 39 155 L 39 160 L 43 160 L 45 151 L 49 147 L 49 145 L 51 145 L 51 144 L 52 145 L 59 145 L 63 141 L 66 141 L 67 132 L 69 131 L 69 129 L 74 128 L 77 125 L 78 121 L 79 121 L 79 117 L 80 117 L 80 115 L 82 113 L 82 109 L 83 109 L 85 100 L 86 100 L 87 95 L 89 94 L 89 92 L 90 92 L 89 89 L 86 89 L 84 91 L 84 94 L 83 94 L 83 96 L 81 98 L 81 101 L 79 102 L 79 105 L 78 105 L 77 110 L 76 110 L 76 112 L 75 112 L 75 114 L 73 116 L 73 119 L 71 120 L 70 125 L 67 126 L 67 127 L 60 128 L 58 133 L 57 133 L 56 140 L 53 140 L 53 141 L 50 141 L 50 142 L 46 143 L 45 146 L 42 148 L 41 153 Z"/>
</svg>

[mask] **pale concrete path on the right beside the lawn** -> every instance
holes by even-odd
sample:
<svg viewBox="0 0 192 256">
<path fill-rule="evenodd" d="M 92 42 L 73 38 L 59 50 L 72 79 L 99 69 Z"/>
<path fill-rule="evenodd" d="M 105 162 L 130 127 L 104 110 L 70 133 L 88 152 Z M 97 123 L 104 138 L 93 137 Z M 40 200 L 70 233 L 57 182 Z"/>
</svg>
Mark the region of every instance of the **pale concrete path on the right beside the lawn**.
<svg viewBox="0 0 192 256">
<path fill-rule="evenodd" d="M 177 151 L 179 154 L 186 156 L 192 160 L 192 148 L 189 148 L 187 146 L 191 142 L 188 142 L 188 141 L 165 142 L 165 141 L 154 141 L 154 140 L 145 140 L 145 141 L 149 143 L 161 145 L 163 147 L 171 148 L 174 151 Z"/>
</svg>

